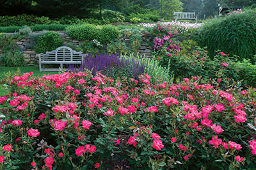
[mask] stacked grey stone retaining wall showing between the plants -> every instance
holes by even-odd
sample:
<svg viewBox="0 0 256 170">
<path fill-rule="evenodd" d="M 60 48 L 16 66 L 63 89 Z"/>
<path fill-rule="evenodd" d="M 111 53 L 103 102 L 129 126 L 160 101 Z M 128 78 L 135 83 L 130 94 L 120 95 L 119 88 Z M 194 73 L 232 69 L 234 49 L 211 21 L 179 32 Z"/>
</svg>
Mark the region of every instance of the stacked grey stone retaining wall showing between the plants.
<svg viewBox="0 0 256 170">
<path fill-rule="evenodd" d="M 80 45 L 83 41 L 77 41 L 77 40 L 72 40 L 70 36 L 68 36 L 65 31 L 56 31 L 60 34 L 62 40 L 63 40 L 63 45 L 67 45 L 67 43 L 72 43 L 74 46 Z M 36 33 L 40 33 L 36 32 Z M 13 34 L 13 33 L 10 33 Z M 143 36 L 143 42 L 141 43 L 141 47 L 139 49 L 139 54 L 140 55 L 145 55 L 146 57 L 151 57 L 152 54 L 152 46 L 147 45 L 148 42 L 150 42 L 150 36 L 149 33 L 145 33 Z M 22 39 L 22 40 L 15 40 L 17 45 L 21 47 L 23 50 L 24 58 L 26 65 L 28 66 L 33 66 L 33 65 L 38 65 L 38 54 L 36 54 L 35 50 L 31 49 L 26 49 L 26 43 L 30 43 L 29 38 Z M 123 37 L 120 38 L 121 42 L 125 42 L 127 47 L 129 47 L 129 38 L 128 37 Z M 0 50 L 0 56 L 3 54 L 3 52 Z"/>
</svg>

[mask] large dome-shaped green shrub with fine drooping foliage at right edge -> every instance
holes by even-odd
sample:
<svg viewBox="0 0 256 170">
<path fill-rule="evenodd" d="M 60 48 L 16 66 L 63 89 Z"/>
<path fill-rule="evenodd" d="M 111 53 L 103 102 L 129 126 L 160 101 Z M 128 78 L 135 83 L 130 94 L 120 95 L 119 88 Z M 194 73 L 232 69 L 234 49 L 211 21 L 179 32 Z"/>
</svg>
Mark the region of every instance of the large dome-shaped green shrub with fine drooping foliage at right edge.
<svg viewBox="0 0 256 170">
<path fill-rule="evenodd" d="M 209 55 L 220 49 L 226 54 L 252 59 L 256 54 L 256 10 L 231 14 L 205 24 L 197 37 L 201 47 L 208 47 Z"/>
</svg>

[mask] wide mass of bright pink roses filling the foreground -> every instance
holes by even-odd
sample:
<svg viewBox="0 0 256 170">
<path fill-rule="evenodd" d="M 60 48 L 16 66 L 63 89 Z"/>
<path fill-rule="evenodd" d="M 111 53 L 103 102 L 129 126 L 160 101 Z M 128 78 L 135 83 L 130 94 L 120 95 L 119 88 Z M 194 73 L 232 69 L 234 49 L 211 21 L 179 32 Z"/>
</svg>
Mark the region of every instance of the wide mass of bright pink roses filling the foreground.
<svg viewBox="0 0 256 170">
<path fill-rule="evenodd" d="M 116 161 L 131 169 L 254 168 L 256 89 L 224 91 L 195 76 L 150 79 L 6 78 L 0 169 L 107 169 Z"/>
</svg>

